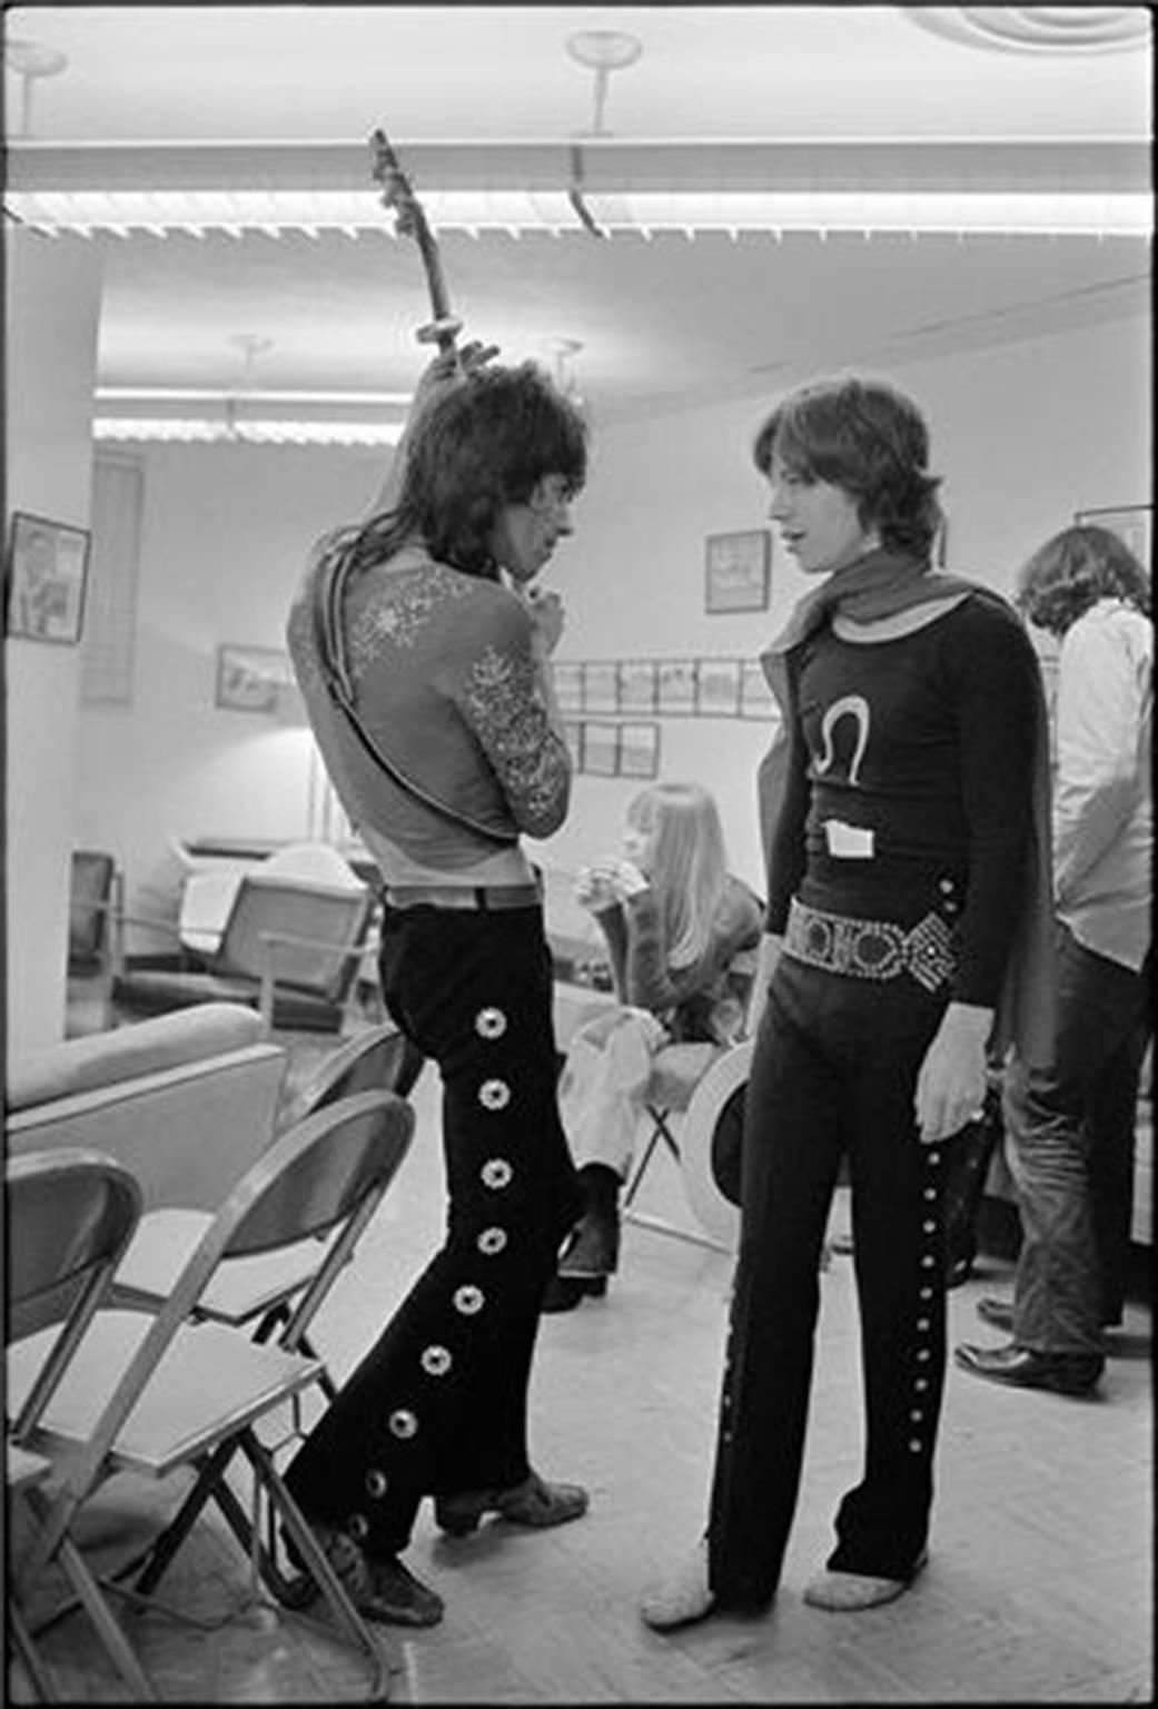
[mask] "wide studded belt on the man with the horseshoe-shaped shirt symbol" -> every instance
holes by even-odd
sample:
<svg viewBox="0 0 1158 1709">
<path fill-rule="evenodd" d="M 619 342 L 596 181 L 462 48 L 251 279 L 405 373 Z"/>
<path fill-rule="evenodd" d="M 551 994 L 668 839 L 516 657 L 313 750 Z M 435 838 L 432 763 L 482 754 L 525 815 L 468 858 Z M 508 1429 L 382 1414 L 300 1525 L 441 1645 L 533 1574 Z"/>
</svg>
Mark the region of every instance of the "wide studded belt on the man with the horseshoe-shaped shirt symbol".
<svg viewBox="0 0 1158 1709">
<path fill-rule="evenodd" d="M 948 984 L 956 971 L 953 928 L 934 913 L 905 931 L 892 919 L 828 914 L 792 899 L 784 954 L 852 979 L 897 979 L 907 972 L 926 991 Z"/>
</svg>

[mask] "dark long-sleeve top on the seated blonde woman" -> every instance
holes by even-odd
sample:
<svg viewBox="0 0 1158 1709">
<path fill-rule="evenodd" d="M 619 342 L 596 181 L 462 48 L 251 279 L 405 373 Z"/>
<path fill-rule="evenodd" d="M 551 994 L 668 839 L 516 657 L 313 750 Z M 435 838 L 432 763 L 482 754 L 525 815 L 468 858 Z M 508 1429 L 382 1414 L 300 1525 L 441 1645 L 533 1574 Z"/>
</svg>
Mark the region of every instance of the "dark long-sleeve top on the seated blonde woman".
<svg viewBox="0 0 1158 1709">
<path fill-rule="evenodd" d="M 740 878 L 728 877 L 704 952 L 670 967 L 652 890 L 596 914 L 611 957 L 620 1003 L 649 1008 L 680 1042 L 731 1042 L 743 1029 L 752 969 L 734 966 L 760 942 L 762 909 Z"/>
</svg>

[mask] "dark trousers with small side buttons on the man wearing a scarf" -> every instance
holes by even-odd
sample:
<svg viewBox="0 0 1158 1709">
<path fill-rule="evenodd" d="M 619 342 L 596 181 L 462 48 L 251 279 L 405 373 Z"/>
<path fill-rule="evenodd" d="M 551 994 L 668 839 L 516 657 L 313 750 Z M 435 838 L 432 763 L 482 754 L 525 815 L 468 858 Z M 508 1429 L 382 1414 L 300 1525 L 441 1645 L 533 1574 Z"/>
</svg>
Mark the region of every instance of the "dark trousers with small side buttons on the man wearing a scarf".
<svg viewBox="0 0 1158 1709">
<path fill-rule="evenodd" d="M 927 1536 L 945 1383 L 945 1147 L 914 1126 L 917 1068 L 945 1012 L 907 974 L 863 981 L 782 955 L 745 1107 L 741 1242 L 731 1307 L 709 1581 L 722 1608 L 767 1606 L 796 1507 L 840 1157 L 868 1408 L 861 1483 L 828 1565 L 909 1577 Z"/>
</svg>

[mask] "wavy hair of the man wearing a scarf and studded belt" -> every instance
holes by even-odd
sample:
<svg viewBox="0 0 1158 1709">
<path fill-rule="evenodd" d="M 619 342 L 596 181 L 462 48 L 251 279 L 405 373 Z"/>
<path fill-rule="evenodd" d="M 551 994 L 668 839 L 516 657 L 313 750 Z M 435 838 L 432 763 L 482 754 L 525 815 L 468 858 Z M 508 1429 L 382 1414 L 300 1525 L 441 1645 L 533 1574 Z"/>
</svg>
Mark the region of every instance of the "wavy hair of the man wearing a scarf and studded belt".
<svg viewBox="0 0 1158 1709">
<path fill-rule="evenodd" d="M 929 429 L 902 391 L 876 379 L 820 379 L 789 393 L 760 427 L 752 455 L 762 475 L 772 458 L 808 482 L 825 480 L 856 499 L 863 528 L 881 543 L 929 559 L 941 530 L 939 475 L 931 475 Z"/>
</svg>

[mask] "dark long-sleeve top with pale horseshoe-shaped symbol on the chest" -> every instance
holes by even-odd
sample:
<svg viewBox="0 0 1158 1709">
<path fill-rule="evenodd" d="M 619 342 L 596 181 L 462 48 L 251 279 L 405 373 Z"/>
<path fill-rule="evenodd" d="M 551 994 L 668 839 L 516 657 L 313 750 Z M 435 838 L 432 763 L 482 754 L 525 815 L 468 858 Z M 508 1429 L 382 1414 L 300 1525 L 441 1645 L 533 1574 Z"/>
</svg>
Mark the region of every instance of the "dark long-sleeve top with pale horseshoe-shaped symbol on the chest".
<svg viewBox="0 0 1158 1709">
<path fill-rule="evenodd" d="M 787 658 L 787 778 L 769 839 L 767 930 L 791 897 L 915 923 L 958 913 L 951 996 L 992 1007 L 1023 906 L 1040 696 L 1020 620 L 967 596 L 892 641 L 825 625 Z M 830 822 L 837 822 L 835 829 Z"/>
</svg>

